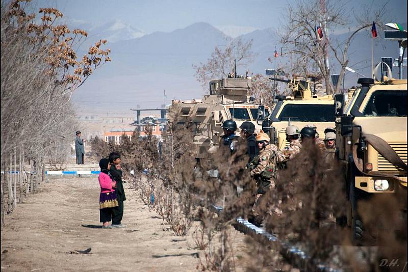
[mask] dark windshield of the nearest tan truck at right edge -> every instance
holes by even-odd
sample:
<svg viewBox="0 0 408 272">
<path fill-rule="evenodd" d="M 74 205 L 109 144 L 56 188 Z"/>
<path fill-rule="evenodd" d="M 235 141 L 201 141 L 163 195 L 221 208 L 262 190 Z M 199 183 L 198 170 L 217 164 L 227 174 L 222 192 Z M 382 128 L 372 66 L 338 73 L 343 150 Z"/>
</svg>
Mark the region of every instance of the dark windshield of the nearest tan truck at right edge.
<svg viewBox="0 0 408 272">
<path fill-rule="evenodd" d="M 406 90 L 378 90 L 371 94 L 364 116 L 406 116 Z"/>
</svg>

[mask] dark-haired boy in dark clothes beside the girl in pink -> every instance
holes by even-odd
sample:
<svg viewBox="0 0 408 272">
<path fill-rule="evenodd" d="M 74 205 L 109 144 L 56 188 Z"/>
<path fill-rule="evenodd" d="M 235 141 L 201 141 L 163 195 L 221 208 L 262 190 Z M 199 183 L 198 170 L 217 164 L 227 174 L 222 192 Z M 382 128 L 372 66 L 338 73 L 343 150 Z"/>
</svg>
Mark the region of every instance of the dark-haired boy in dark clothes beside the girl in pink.
<svg viewBox="0 0 408 272">
<path fill-rule="evenodd" d="M 111 169 L 109 174 L 112 179 L 116 181 L 116 196 L 118 198 L 119 206 L 112 208 L 112 226 L 115 228 L 125 228 L 126 226 L 121 224 L 123 218 L 123 201 L 126 200 L 124 195 L 123 183 L 122 183 L 122 170 L 120 167 L 120 155 L 117 152 L 109 154 L 109 162 L 111 163 Z"/>
</svg>

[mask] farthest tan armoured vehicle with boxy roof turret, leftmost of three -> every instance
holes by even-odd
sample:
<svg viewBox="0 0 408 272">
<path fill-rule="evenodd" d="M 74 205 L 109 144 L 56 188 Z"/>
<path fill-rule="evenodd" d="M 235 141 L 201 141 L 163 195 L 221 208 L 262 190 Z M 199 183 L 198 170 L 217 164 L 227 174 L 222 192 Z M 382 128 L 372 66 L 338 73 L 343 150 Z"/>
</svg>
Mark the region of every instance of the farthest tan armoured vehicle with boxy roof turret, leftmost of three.
<svg viewBox="0 0 408 272">
<path fill-rule="evenodd" d="M 248 95 L 250 88 L 250 77 L 235 75 L 211 80 L 209 94 L 203 99 L 172 101 L 172 107 L 180 108 L 179 123 L 191 122 L 194 125 L 197 159 L 218 149 L 223 134 L 221 126 L 225 120 L 234 120 L 237 127 L 250 121 L 255 124 L 256 131 L 262 128 L 257 123 L 259 103 Z M 265 114 L 270 114 L 269 107 L 265 107 Z"/>
</svg>

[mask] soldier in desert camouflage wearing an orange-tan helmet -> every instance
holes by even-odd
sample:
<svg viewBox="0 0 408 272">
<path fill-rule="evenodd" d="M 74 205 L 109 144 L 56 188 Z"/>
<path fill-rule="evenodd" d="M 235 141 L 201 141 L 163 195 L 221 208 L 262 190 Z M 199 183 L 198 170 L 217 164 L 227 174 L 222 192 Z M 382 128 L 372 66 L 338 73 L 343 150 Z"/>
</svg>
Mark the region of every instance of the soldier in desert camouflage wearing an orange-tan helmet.
<svg viewBox="0 0 408 272">
<path fill-rule="evenodd" d="M 278 149 L 275 145 L 269 144 L 269 136 L 262 130 L 257 134 L 256 140 L 259 148 L 259 158 L 254 168 L 250 171 L 250 175 L 256 180 L 258 186 L 255 203 L 252 207 L 253 223 L 260 225 L 262 223 L 262 216 L 257 211 L 257 205 L 260 203 L 262 196 L 270 188 L 275 187 L 276 153 Z"/>
</svg>

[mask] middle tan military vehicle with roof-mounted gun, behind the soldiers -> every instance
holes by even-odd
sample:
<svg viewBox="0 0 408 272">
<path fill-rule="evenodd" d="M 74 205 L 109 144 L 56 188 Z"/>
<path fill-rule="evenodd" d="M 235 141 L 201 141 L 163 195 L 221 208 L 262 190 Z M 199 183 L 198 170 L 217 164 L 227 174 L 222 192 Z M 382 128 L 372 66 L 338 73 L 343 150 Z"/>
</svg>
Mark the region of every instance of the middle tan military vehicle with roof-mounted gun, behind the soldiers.
<svg viewBox="0 0 408 272">
<path fill-rule="evenodd" d="M 326 127 L 334 127 L 334 100 L 331 95 L 318 96 L 312 94 L 310 90 L 310 81 L 302 79 L 279 79 L 271 80 L 282 81 L 288 84 L 292 90 L 293 96 L 277 95 L 275 104 L 269 119 L 260 115 L 258 120 L 263 121 L 263 130 L 269 132 L 271 142 L 276 144 L 279 149 L 288 146 L 286 141 L 285 129 L 288 125 L 295 125 L 302 129 L 305 125 L 313 123 L 319 135 L 324 137 Z M 260 113 L 262 112 L 260 106 Z"/>
</svg>

